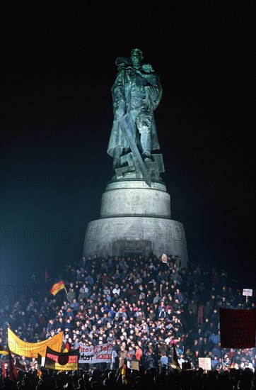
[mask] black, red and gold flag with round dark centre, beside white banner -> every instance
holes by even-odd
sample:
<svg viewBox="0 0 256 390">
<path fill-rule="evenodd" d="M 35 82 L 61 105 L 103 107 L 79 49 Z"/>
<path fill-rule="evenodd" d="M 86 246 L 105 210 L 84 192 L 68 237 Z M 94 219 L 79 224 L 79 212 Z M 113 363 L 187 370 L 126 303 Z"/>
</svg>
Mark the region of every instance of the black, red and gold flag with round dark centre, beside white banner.
<svg viewBox="0 0 256 390">
<path fill-rule="evenodd" d="M 78 356 L 78 349 L 70 352 L 57 352 L 47 347 L 45 368 L 57 371 L 76 371 L 78 369 Z"/>
</svg>

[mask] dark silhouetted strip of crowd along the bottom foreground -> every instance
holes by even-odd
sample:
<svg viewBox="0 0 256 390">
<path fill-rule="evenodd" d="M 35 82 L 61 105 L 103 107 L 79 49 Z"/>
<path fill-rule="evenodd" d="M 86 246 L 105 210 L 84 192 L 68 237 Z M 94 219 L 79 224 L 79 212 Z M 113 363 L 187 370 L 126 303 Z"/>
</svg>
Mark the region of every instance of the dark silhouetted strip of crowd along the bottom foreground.
<svg viewBox="0 0 256 390">
<path fill-rule="evenodd" d="M 166 370 L 163 367 L 143 369 L 131 372 L 127 384 L 115 370 L 93 369 L 86 372 L 52 372 L 42 374 L 38 379 L 37 371 L 19 372 L 19 380 L 14 384 L 6 378 L 1 389 L 23 390 L 98 390 L 98 389 L 163 389 L 163 390 L 254 390 L 255 375 L 250 369 L 231 369 L 229 372 Z"/>
</svg>

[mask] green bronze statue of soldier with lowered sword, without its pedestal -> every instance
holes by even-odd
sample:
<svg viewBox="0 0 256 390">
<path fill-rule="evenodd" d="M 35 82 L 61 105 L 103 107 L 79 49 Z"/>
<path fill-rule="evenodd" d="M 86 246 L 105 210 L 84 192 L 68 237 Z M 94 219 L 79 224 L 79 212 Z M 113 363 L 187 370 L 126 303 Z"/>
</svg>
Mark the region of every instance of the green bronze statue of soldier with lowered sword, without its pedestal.
<svg viewBox="0 0 256 390">
<path fill-rule="evenodd" d="M 150 186 L 151 178 L 158 180 L 164 172 L 162 155 L 152 153 L 160 150 L 153 111 L 161 101 L 162 87 L 153 67 L 142 60 L 141 50 L 133 49 L 129 58 L 118 57 L 115 62 L 114 120 L 107 153 L 113 157 L 117 179 L 142 178 Z"/>
</svg>

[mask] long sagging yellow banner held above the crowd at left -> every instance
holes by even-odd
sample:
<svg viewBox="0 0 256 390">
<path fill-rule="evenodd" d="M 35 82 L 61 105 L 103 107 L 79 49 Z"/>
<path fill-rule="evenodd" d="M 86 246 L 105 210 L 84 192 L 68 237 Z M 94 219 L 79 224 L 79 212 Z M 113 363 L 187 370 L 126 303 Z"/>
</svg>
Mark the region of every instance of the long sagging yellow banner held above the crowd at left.
<svg viewBox="0 0 256 390">
<path fill-rule="evenodd" d="M 58 333 L 47 340 L 41 342 L 26 342 L 18 338 L 10 328 L 8 332 L 8 347 L 11 352 L 16 355 L 25 357 L 37 357 L 38 354 L 45 357 L 46 348 L 50 347 L 52 350 L 60 352 L 62 349 L 63 332 Z"/>
</svg>

